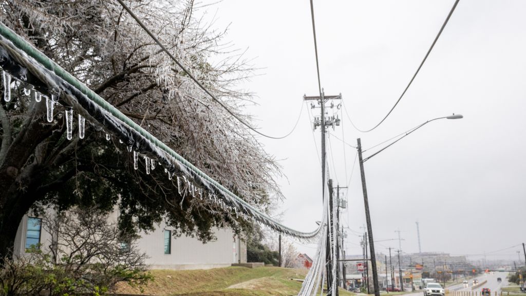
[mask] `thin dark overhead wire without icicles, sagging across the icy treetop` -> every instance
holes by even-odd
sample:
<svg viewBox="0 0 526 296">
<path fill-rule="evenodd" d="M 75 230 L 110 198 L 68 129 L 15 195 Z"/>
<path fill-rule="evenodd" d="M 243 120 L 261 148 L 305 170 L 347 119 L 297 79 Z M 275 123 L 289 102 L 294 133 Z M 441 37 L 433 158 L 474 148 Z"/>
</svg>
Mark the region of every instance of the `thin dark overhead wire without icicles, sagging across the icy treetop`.
<svg viewBox="0 0 526 296">
<path fill-rule="evenodd" d="M 157 43 L 157 45 L 159 45 L 159 47 L 161 47 L 163 49 L 163 51 L 171 58 L 171 60 L 173 60 L 180 68 L 181 70 L 183 70 L 190 78 L 191 80 L 193 80 L 200 88 L 201 90 L 203 90 L 205 93 L 207 93 L 214 101 L 216 101 L 216 103 L 218 103 L 221 107 L 223 107 L 230 115 L 234 116 L 235 119 L 237 119 L 240 123 L 242 123 L 243 125 L 245 125 L 246 127 L 248 127 L 250 130 L 256 132 L 257 134 L 259 135 L 262 135 L 264 137 L 268 137 L 269 139 L 275 139 L 275 140 L 280 140 L 280 139 L 285 139 L 287 136 L 289 136 L 292 132 L 294 132 L 294 130 L 296 129 L 296 126 L 298 124 L 298 122 L 296 122 L 296 125 L 292 128 L 292 130 L 284 135 L 284 136 L 278 136 L 278 137 L 275 137 L 275 136 L 269 136 L 269 135 L 266 135 L 264 133 L 261 133 L 259 132 L 258 130 L 254 129 L 254 127 L 250 126 L 250 124 L 248 124 L 247 122 L 245 122 L 244 120 L 242 120 L 239 116 L 237 116 L 234 112 L 230 111 L 230 109 L 224 104 L 222 103 L 214 94 L 212 94 L 209 90 L 207 90 L 207 88 L 201 84 L 196 77 L 194 77 L 194 75 L 192 75 L 186 68 L 185 66 L 183 66 L 183 64 L 181 64 L 173 54 L 171 54 L 168 49 L 159 41 L 159 39 L 153 34 L 151 33 L 151 31 L 143 24 L 142 21 L 140 21 L 140 19 L 131 11 L 131 9 L 122 1 L 122 0 L 117 0 L 117 2 L 123 6 L 123 8 L 130 14 L 130 16 L 132 18 L 135 19 L 135 21 L 137 22 L 137 24 L 144 29 L 144 31 L 150 35 L 150 37 L 155 41 L 155 43 Z M 301 115 L 301 114 L 300 114 Z M 299 120 L 298 120 L 299 121 Z"/>
</svg>

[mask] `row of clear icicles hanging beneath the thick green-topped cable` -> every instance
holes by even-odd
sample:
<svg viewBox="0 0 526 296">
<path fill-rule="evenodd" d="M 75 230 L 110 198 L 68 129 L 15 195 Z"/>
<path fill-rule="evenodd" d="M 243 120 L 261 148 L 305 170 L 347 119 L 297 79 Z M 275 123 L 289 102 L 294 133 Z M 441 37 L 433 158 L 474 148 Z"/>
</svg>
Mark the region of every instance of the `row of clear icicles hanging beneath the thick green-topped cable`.
<svg viewBox="0 0 526 296">
<path fill-rule="evenodd" d="M 9 75 L 5 71 L 2 71 L 2 81 L 4 84 L 4 101 L 9 102 L 11 101 L 11 75 Z M 36 90 L 34 89 L 32 90 L 31 88 L 27 88 L 27 87 L 24 87 L 24 94 L 27 96 L 31 96 L 31 94 L 33 94 L 32 97 L 35 99 L 36 102 L 41 102 L 42 98 L 44 97 L 46 100 L 46 120 L 47 122 L 53 122 L 54 106 L 55 104 L 59 104 L 58 98 L 55 95 L 51 95 L 51 97 L 49 98 L 47 95 L 38 93 Z M 66 114 L 66 137 L 68 140 L 72 140 L 73 139 L 73 109 L 67 108 L 64 111 L 64 113 Z M 77 116 L 78 116 L 78 137 L 79 139 L 84 139 L 86 119 L 80 114 L 77 114 Z M 97 127 L 95 127 L 95 129 L 97 129 Z M 99 129 L 102 130 L 102 128 L 100 127 Z M 108 133 L 106 133 L 106 140 L 107 141 L 111 140 L 111 135 Z M 123 141 L 119 139 L 119 143 L 122 144 Z M 130 145 L 128 145 L 126 148 L 128 152 L 132 152 L 133 150 L 132 146 Z M 154 159 L 150 159 L 146 155 L 144 155 L 143 157 L 144 157 L 145 166 L 146 166 L 146 174 L 149 175 L 151 170 L 155 170 L 156 161 Z M 133 162 L 134 162 L 135 170 L 138 169 L 138 159 L 139 159 L 139 152 L 133 150 Z M 161 163 L 159 162 L 157 162 L 157 164 L 161 165 Z M 168 179 L 172 180 L 175 173 L 170 173 L 166 167 L 164 170 L 165 170 L 165 173 L 168 173 Z M 176 176 L 176 177 L 177 177 L 178 192 L 181 196 L 186 196 L 186 194 L 190 194 L 194 196 L 195 198 L 196 192 L 197 192 L 197 195 L 199 196 L 199 198 L 203 200 L 203 195 L 204 195 L 203 189 L 198 188 L 198 186 L 190 182 L 190 180 L 187 179 L 186 176 L 182 177 L 184 179 L 183 183 L 181 183 L 181 177 L 179 176 Z M 182 184 L 184 183 L 187 184 L 185 186 L 185 191 L 181 191 L 181 188 L 183 187 Z M 254 215 L 247 215 L 245 212 L 238 213 L 238 209 L 236 206 L 231 206 L 231 205 L 226 204 L 221 199 L 218 199 L 215 193 L 208 193 L 208 200 L 214 201 L 216 204 L 219 203 L 221 208 L 225 211 L 229 210 L 230 212 L 232 212 L 232 209 L 234 209 L 236 213 L 236 218 L 238 218 L 239 214 L 241 214 L 242 216 L 244 216 L 246 220 L 251 219 L 254 222 L 258 222 L 260 225 L 265 224 L 260 219 L 256 219 Z M 285 234 L 287 235 L 287 233 Z"/>
</svg>

